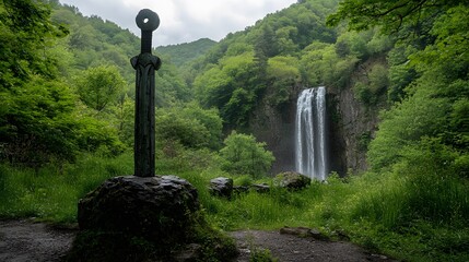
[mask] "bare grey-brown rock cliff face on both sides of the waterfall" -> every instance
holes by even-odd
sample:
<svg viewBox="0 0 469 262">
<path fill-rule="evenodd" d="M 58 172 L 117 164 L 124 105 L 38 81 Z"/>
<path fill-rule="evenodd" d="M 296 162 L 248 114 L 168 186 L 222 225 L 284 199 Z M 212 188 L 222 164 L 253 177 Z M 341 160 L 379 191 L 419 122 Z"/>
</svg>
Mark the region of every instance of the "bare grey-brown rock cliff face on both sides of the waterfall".
<svg viewBox="0 0 469 262">
<path fill-rule="evenodd" d="M 366 64 L 361 67 L 366 70 Z M 360 74 L 361 72 L 357 72 Z M 366 146 L 377 129 L 378 109 L 365 107 L 355 97 L 352 86 L 327 88 L 329 170 L 344 176 L 366 169 Z M 268 144 L 275 163 L 272 174 L 294 170 L 294 132 L 296 99 L 301 86 L 292 87 L 288 103 L 272 107 L 266 94 L 253 114 L 249 128 Z"/>
</svg>

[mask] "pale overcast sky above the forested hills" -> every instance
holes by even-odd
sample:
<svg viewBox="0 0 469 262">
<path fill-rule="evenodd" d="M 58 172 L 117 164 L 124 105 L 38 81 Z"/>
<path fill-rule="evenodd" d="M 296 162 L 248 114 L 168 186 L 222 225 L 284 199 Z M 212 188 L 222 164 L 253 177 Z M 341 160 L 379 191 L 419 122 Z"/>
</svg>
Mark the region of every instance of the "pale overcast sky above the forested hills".
<svg viewBox="0 0 469 262">
<path fill-rule="evenodd" d="M 268 13 L 282 10 L 296 0 L 60 0 L 92 14 L 113 21 L 140 36 L 136 16 L 151 9 L 160 16 L 153 33 L 154 46 L 189 43 L 202 37 L 220 40 L 228 33 L 243 31 Z"/>
</svg>

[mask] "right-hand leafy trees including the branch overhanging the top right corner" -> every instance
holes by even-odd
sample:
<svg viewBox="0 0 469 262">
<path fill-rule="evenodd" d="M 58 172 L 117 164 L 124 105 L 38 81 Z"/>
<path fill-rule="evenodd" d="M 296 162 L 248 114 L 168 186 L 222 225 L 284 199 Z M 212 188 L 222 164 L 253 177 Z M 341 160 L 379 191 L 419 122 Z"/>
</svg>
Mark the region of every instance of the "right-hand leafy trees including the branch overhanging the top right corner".
<svg viewBox="0 0 469 262">
<path fill-rule="evenodd" d="M 345 0 L 328 17 L 329 24 L 347 21 L 352 29 L 378 25 L 384 33 L 401 34 L 412 28 L 414 38 L 425 39 L 423 46 L 402 40 L 398 48 L 407 57 L 397 59 L 399 49 L 390 57 L 391 84 L 401 85 L 401 91 L 391 90 L 391 94 L 407 88 L 406 98 L 383 114 L 368 152 L 373 167 L 391 166 L 403 152 L 427 140 L 453 148 L 459 155 L 455 162 L 467 158 L 468 130 L 464 127 L 468 123 L 460 114 L 469 105 L 468 14 L 468 1 Z"/>
</svg>

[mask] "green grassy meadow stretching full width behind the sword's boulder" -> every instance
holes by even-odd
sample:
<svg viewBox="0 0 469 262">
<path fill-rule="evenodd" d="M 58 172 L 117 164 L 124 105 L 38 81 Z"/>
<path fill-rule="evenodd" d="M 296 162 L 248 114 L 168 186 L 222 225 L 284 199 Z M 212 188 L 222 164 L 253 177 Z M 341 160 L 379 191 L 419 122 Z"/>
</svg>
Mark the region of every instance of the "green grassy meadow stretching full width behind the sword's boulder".
<svg viewBox="0 0 469 262">
<path fill-rule="evenodd" d="M 469 260 L 468 184 L 460 180 L 402 176 L 397 168 L 380 175 L 332 175 L 327 182 L 314 181 L 298 192 L 274 188 L 270 193 L 249 192 L 226 200 L 210 195 L 210 179 L 228 176 L 235 184 L 272 180 L 230 176 L 201 159 L 202 165 L 190 165 L 187 159 L 194 155 L 159 159 L 156 172 L 180 176 L 198 188 L 207 219 L 220 230 L 303 226 L 336 239 L 347 236 L 398 260 Z M 75 223 L 78 200 L 107 178 L 132 174 L 132 165 L 131 154 L 117 158 L 82 155 L 73 165 L 60 169 L 49 165 L 38 172 L 1 165 L 0 216 Z"/>
</svg>

